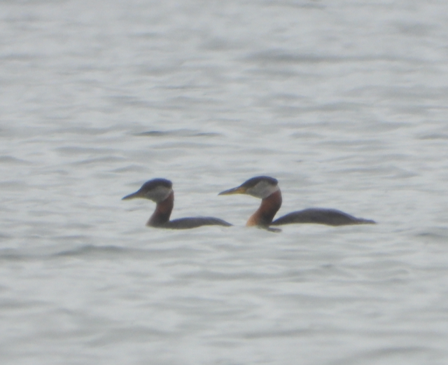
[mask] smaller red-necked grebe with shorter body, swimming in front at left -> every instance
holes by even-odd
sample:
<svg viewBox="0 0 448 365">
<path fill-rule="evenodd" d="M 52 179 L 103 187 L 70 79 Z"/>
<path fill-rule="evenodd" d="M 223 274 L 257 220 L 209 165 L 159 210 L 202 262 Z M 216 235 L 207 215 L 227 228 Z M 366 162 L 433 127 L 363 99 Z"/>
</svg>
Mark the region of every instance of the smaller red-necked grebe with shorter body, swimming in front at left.
<svg viewBox="0 0 448 365">
<path fill-rule="evenodd" d="M 194 218 L 181 218 L 169 220 L 174 206 L 173 183 L 167 179 L 152 179 L 146 181 L 139 191 L 126 195 L 122 200 L 144 198 L 153 200 L 157 205 L 146 226 L 157 228 L 186 229 L 200 226 L 232 226 L 223 219 L 212 216 L 197 216 Z"/>
</svg>

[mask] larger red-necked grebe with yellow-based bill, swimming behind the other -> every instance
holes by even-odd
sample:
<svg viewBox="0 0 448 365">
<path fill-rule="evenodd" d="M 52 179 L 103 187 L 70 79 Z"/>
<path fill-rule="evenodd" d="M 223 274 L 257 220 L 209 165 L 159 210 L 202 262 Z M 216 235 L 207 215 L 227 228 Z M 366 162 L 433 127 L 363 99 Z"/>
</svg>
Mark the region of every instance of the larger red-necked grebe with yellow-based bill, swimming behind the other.
<svg viewBox="0 0 448 365">
<path fill-rule="evenodd" d="M 279 181 L 273 177 L 259 176 L 248 179 L 240 186 L 218 195 L 247 194 L 261 198 L 261 205 L 258 210 L 248 219 L 246 226 L 259 226 L 268 228 L 269 226 L 280 226 L 290 223 L 318 223 L 328 226 L 346 226 L 349 224 L 374 224 L 369 219 L 361 219 L 346 214 L 337 209 L 309 208 L 292 212 L 272 221 L 276 212 L 281 207 L 281 191 Z M 270 228 L 269 230 L 272 230 Z"/>
</svg>

